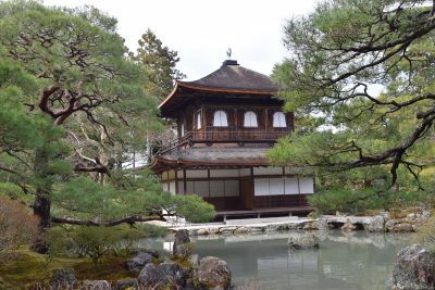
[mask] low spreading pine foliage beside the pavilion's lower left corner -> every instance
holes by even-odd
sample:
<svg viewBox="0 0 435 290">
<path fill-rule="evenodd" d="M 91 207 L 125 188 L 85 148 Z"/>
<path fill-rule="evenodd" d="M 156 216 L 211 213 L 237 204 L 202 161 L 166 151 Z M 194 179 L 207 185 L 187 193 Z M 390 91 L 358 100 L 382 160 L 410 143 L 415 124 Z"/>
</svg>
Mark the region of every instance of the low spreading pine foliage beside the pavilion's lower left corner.
<svg viewBox="0 0 435 290">
<path fill-rule="evenodd" d="M 79 177 L 53 191 L 52 201 L 59 204 L 57 215 L 108 223 L 129 215 L 156 217 L 161 211 L 184 216 L 190 222 L 207 222 L 214 217 L 213 206 L 197 196 L 174 196 L 162 191 L 152 176 L 117 171 L 104 186 Z M 89 192 L 92 192 L 89 194 Z"/>
</svg>

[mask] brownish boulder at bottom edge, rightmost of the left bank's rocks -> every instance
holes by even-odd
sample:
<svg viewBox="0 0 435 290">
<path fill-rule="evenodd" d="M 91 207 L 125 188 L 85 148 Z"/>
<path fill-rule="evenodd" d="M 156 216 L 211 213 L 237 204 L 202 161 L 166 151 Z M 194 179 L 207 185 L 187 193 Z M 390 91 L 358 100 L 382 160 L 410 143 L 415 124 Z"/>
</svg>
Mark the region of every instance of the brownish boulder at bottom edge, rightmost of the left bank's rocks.
<svg viewBox="0 0 435 290">
<path fill-rule="evenodd" d="M 232 275 L 225 261 L 204 256 L 199 261 L 192 280 L 196 289 L 228 289 Z"/>
</svg>

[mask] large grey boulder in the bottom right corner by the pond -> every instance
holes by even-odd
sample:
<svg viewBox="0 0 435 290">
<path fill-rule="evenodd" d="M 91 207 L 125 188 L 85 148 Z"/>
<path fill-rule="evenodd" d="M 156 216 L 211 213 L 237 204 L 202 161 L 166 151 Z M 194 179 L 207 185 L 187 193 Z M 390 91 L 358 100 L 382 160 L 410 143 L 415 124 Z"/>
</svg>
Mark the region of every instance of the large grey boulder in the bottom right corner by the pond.
<svg viewBox="0 0 435 290">
<path fill-rule="evenodd" d="M 423 245 L 413 244 L 397 254 L 393 289 L 435 289 L 435 257 Z"/>
</svg>

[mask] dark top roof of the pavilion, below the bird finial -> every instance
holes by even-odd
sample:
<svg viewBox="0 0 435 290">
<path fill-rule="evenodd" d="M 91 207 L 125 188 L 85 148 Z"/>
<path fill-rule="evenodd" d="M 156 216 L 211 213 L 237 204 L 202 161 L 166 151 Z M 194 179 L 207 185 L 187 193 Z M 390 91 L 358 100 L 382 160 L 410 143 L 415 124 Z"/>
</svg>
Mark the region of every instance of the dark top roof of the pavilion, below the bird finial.
<svg viewBox="0 0 435 290">
<path fill-rule="evenodd" d="M 179 81 L 181 85 L 213 89 L 235 89 L 275 92 L 277 87 L 266 75 L 257 73 L 237 64 L 237 61 L 225 61 L 222 66 L 203 78 L 194 81 Z"/>
</svg>

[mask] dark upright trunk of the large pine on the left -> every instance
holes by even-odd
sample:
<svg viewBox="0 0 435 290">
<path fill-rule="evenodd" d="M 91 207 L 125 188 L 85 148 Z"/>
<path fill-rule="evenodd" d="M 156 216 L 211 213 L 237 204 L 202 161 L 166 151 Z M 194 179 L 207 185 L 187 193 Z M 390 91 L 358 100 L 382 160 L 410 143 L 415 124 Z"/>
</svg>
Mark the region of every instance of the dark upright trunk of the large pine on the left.
<svg viewBox="0 0 435 290">
<path fill-rule="evenodd" d="M 48 250 L 46 234 L 50 227 L 51 219 L 51 180 L 48 172 L 49 154 L 44 149 L 38 149 L 35 153 L 35 177 L 37 179 L 34 215 L 39 219 L 39 236 L 35 240 L 32 249 L 38 253 L 46 253 Z"/>
</svg>

